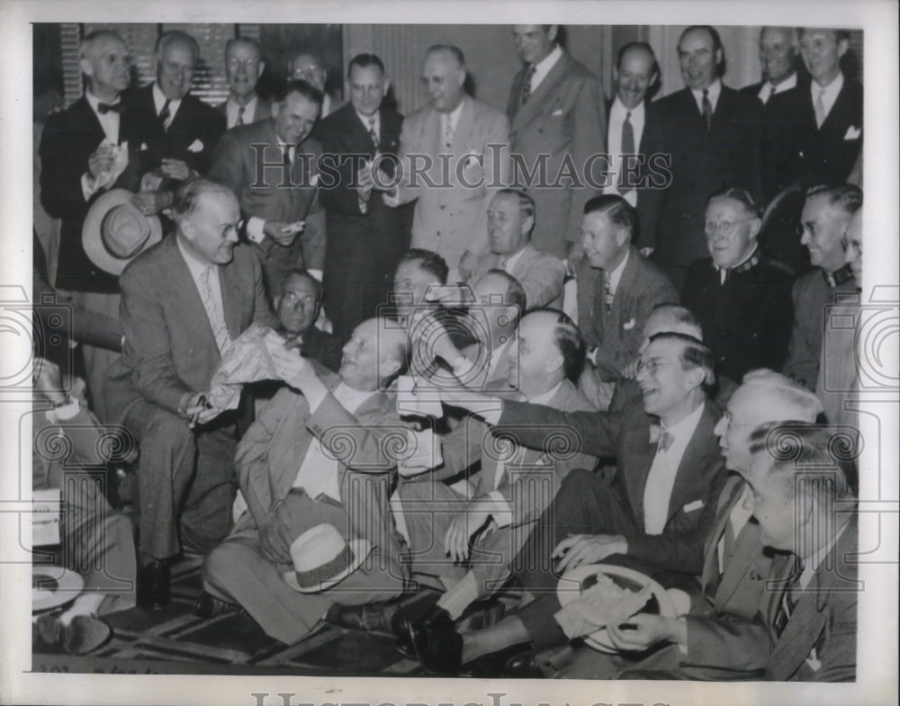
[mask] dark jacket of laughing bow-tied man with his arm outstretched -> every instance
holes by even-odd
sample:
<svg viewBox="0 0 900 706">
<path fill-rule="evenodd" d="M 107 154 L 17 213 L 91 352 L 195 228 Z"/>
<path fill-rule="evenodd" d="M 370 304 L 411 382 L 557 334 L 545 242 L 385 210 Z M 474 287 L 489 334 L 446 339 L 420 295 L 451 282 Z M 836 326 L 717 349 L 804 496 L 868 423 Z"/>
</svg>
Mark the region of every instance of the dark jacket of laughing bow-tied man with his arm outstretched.
<svg viewBox="0 0 900 706">
<path fill-rule="evenodd" d="M 669 516 L 662 534 L 645 535 L 644 487 L 656 454 L 650 443 L 650 425 L 655 416 L 644 412 L 636 400 L 624 412 L 558 412 L 551 407 L 524 402 L 503 402 L 498 427 L 518 443 L 544 448 L 560 433 L 579 444 L 581 452 L 599 457 L 617 457 L 610 492 L 617 493 L 630 510 L 637 532 L 628 534 L 628 554 L 661 567 L 686 574 L 699 574 L 703 567 L 702 537 L 716 514 L 716 498 L 725 482 L 725 467 L 713 428 L 721 416 L 718 407 L 706 402 L 697 429 L 681 458 L 669 500 Z"/>
</svg>

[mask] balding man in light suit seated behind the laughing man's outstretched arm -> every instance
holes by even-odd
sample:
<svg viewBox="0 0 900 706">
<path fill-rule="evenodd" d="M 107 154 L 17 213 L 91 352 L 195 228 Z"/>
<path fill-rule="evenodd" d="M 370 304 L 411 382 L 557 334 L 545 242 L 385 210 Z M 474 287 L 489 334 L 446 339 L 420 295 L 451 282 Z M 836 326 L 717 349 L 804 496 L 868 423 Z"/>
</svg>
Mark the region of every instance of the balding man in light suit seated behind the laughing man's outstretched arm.
<svg viewBox="0 0 900 706">
<path fill-rule="evenodd" d="M 583 355 L 584 343 L 572 319 L 560 311 L 537 309 L 518 325 L 508 353 L 509 381 L 491 389 L 563 412 L 592 410 L 572 383 Z M 555 459 L 553 451 L 528 450 L 506 441 L 502 427 L 491 429 L 474 417 L 443 437 L 442 447 L 444 467 L 401 483 L 399 494 L 412 572 L 437 577 L 446 587 L 437 607 L 421 620 L 452 629 L 470 604 L 493 594 L 509 578 L 512 559 L 563 478 L 596 460 L 583 453 Z M 471 499 L 440 482 L 479 461 L 481 473 Z M 401 467 L 401 475 L 414 470 Z M 395 607 L 385 606 L 377 620 L 370 606 L 342 608 L 329 620 L 392 631 L 395 613 Z"/>
</svg>

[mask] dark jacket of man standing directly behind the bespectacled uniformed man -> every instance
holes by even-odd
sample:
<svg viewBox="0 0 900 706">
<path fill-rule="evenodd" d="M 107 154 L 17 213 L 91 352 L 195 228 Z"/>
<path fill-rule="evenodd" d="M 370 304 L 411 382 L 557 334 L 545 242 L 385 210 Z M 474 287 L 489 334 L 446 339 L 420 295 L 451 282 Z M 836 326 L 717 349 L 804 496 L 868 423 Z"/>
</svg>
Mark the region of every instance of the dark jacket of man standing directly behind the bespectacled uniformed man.
<svg viewBox="0 0 900 706">
<path fill-rule="evenodd" d="M 762 105 L 723 85 L 709 132 L 689 88 L 654 105 L 658 120 L 644 130 L 643 149 L 671 155 L 671 183 L 639 204 L 641 223 L 653 230 L 642 232 L 637 246 L 655 247 L 660 264 L 684 267 L 708 255 L 704 216 L 713 192 L 726 186 L 761 192 Z"/>
</svg>

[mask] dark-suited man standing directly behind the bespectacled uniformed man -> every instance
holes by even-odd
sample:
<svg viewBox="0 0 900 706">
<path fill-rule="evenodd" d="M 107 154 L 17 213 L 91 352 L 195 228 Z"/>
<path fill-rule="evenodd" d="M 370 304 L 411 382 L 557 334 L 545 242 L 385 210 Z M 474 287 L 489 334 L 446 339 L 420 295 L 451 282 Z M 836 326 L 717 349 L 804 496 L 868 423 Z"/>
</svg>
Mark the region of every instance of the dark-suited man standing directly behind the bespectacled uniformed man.
<svg viewBox="0 0 900 706">
<path fill-rule="evenodd" d="M 687 86 L 654 103 L 657 121 L 644 152 L 671 156 L 671 179 L 644 199 L 640 246 L 680 285 L 689 264 L 707 254 L 703 217 L 709 194 L 734 184 L 760 192 L 762 106 L 722 83 L 725 51 L 714 27 L 691 26 L 679 40 Z"/>
</svg>

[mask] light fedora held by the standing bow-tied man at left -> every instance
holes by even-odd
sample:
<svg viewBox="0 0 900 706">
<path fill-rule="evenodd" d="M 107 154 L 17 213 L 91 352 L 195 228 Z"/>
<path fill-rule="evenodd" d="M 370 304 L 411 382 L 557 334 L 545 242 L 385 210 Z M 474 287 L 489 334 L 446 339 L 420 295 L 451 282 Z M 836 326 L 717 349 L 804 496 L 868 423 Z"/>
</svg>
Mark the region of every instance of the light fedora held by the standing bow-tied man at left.
<svg viewBox="0 0 900 706">
<path fill-rule="evenodd" d="M 104 193 L 87 211 L 81 228 L 85 254 L 108 273 L 121 274 L 126 264 L 163 237 L 159 218 L 141 213 L 131 196 L 126 189 Z"/>
</svg>

